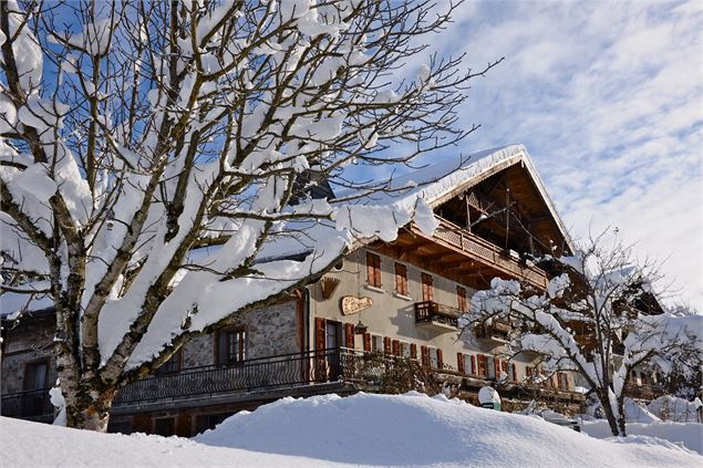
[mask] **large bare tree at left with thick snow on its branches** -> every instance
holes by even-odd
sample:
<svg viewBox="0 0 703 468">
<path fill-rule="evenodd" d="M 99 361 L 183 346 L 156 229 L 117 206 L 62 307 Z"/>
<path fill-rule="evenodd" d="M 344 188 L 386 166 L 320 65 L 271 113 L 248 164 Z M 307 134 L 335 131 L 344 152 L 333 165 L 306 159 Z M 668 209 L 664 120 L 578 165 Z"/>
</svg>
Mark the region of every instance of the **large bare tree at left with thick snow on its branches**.
<svg viewBox="0 0 703 468">
<path fill-rule="evenodd" d="M 192 336 L 426 211 L 351 204 L 392 189 L 363 168 L 472 132 L 455 111 L 495 63 L 405 66 L 453 8 L 0 2 L 2 292 L 53 298 L 69 425 L 105 430 L 116 392 Z M 308 197 L 322 180 L 345 195 Z"/>
</svg>

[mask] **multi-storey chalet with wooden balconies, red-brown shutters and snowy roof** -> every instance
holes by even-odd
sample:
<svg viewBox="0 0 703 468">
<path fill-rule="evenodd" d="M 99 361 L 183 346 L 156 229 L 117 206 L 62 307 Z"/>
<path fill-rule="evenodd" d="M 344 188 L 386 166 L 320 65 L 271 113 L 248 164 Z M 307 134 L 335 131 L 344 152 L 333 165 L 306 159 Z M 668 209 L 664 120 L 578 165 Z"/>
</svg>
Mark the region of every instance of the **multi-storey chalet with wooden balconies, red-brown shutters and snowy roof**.
<svg viewBox="0 0 703 468">
<path fill-rule="evenodd" d="M 118 393 L 110 430 L 190 436 L 282 396 L 379 392 L 400 362 L 417 363 L 461 398 L 476 401 L 482 386 L 493 385 L 508 409 L 533 398 L 577 409 L 583 396 L 572 375 L 536 378 L 539 356 L 506 357 L 509 322 L 459 335 L 473 293 L 494 277 L 545 288 L 548 274 L 530 258 L 573 249 L 526 149 L 445 160 L 394 185 L 393 194 L 360 202 L 422 197 L 438 221 L 434 235 L 411 222 L 393 241 L 364 239 L 296 294 L 194 339 L 155 375 Z M 306 241 L 282 250 L 304 253 Z M 50 420 L 53 315 L 34 309 L 30 319 L 3 323 L 1 412 Z M 380 360 L 364 365 L 368 355 Z"/>
</svg>

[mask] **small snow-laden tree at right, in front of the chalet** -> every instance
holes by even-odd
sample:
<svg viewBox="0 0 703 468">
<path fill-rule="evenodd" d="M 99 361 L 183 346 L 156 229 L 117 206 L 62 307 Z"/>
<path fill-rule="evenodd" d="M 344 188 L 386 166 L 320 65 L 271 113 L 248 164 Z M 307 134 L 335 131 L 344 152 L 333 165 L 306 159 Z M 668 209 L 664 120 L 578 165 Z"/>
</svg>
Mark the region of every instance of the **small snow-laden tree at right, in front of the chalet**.
<svg viewBox="0 0 703 468">
<path fill-rule="evenodd" d="M 631 371 L 650 365 L 665 374 L 684 350 L 700 354 L 702 318 L 664 313 L 653 291 L 657 269 L 637 266 L 630 247 L 619 241 L 606 247 L 603 239 L 589 238 L 573 257 L 542 259 L 539 266 L 551 277 L 546 291 L 494 279 L 490 290 L 473 297 L 464 331 L 509 321 L 510 352 L 537 353 L 548 373 L 578 373 L 612 434 L 626 436 Z"/>
</svg>

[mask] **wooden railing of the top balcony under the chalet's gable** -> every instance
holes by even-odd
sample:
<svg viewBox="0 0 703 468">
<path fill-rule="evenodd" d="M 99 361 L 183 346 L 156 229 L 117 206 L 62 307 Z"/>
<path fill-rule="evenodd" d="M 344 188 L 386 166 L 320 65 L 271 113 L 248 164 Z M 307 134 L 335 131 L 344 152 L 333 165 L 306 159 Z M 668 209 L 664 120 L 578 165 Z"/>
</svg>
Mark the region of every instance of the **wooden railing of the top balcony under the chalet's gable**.
<svg viewBox="0 0 703 468">
<path fill-rule="evenodd" d="M 528 267 L 517 259 L 507 256 L 503 249 L 459 228 L 451 221 L 437 218 L 440 226 L 434 236 L 444 242 L 461 249 L 483 262 L 494 264 L 506 273 L 527 280 L 538 288 L 547 288 L 547 274 L 537 267 Z"/>
</svg>

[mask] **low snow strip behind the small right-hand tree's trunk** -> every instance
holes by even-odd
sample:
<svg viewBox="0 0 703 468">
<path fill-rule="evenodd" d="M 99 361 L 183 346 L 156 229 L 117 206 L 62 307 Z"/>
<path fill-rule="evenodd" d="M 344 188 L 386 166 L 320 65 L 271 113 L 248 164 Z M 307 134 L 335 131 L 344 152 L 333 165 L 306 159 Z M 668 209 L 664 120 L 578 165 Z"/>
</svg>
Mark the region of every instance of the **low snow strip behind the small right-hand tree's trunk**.
<svg viewBox="0 0 703 468">
<path fill-rule="evenodd" d="M 583 423 L 582 430 L 591 437 L 606 439 L 611 437 L 610 427 L 604 419 Z M 658 437 L 673 444 L 682 444 L 690 450 L 703 455 L 703 424 L 697 423 L 629 423 L 628 437 Z M 703 461 L 702 461 L 703 464 Z"/>
</svg>

